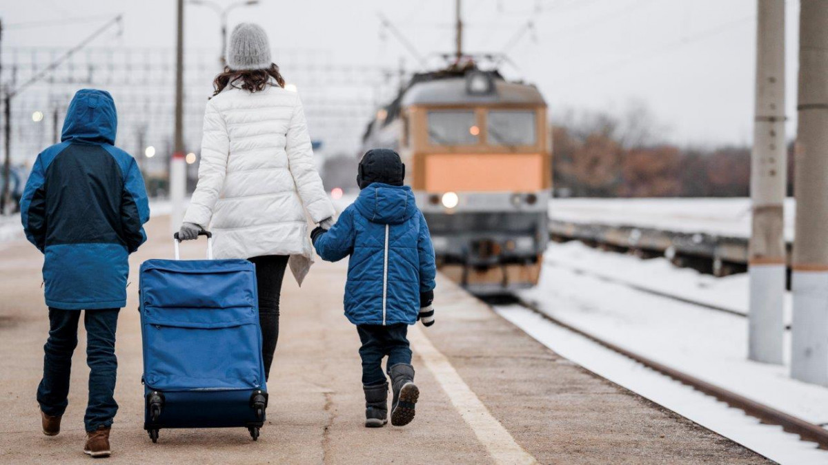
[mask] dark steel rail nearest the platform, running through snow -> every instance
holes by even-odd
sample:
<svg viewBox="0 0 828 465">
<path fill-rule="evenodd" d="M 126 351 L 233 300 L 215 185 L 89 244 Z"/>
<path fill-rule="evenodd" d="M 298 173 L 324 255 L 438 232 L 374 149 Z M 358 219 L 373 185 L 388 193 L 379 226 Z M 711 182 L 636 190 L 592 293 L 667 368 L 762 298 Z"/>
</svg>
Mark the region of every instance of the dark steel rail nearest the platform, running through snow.
<svg viewBox="0 0 828 465">
<path fill-rule="evenodd" d="M 624 357 L 628 357 L 633 361 L 642 364 L 644 367 L 648 367 L 655 372 L 668 376 L 681 382 L 682 384 L 685 384 L 686 386 L 691 386 L 696 391 L 713 396 L 715 399 L 720 400 L 731 407 L 743 410 L 747 415 L 759 419 L 764 424 L 776 424 L 781 426 L 782 429 L 788 433 L 798 434 L 802 440 L 815 442 L 819 444 L 820 448 L 828 449 L 828 430 L 823 429 L 816 424 L 812 424 L 793 415 L 788 415 L 781 410 L 776 410 L 773 407 L 763 405 L 755 400 L 744 397 L 744 395 L 739 395 L 733 391 L 726 390 L 720 386 L 703 381 L 696 376 L 689 375 L 685 372 L 676 370 L 675 368 L 668 367 L 663 363 L 656 362 L 649 357 L 644 357 L 639 353 L 622 348 L 618 344 L 611 343 L 604 338 L 599 338 L 598 336 L 595 336 L 595 334 L 585 331 L 584 329 L 577 328 L 566 323 L 565 321 L 562 321 L 561 319 L 551 316 L 550 314 L 546 314 L 546 312 L 539 309 L 537 305 L 532 302 L 522 300 L 517 296 L 514 296 L 514 299 L 515 303 L 531 310 L 561 328 L 565 328 L 573 333 L 579 334 L 580 336 L 587 338 L 604 348 L 608 348 L 609 350 L 617 352 Z"/>
</svg>

